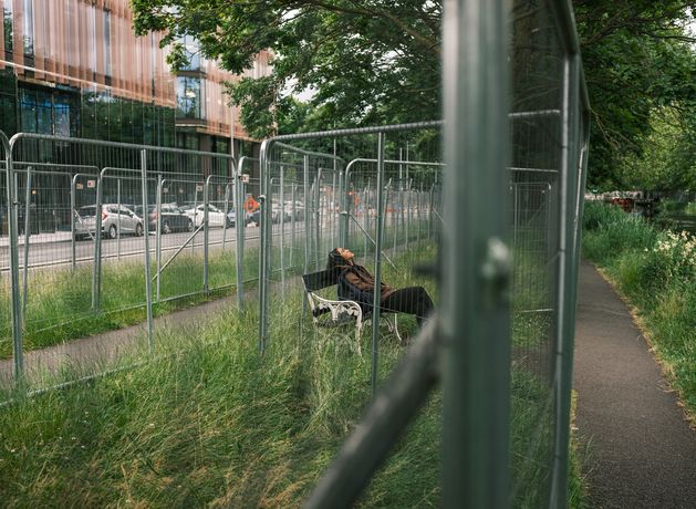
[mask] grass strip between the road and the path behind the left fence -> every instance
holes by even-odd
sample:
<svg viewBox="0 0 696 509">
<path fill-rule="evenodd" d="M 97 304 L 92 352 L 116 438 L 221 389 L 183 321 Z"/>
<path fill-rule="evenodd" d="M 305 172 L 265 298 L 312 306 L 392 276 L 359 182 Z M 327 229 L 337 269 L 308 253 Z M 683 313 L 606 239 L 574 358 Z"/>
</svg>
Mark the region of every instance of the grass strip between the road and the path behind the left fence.
<svg viewBox="0 0 696 509">
<path fill-rule="evenodd" d="M 163 263 L 167 258 L 163 258 Z M 249 250 L 242 268 L 248 287 L 256 285 L 258 251 Z M 155 263 L 150 277 L 156 273 Z M 202 292 L 202 254 L 183 251 L 163 272 L 160 302 L 153 307 L 155 316 L 195 305 L 236 291 L 235 254 L 214 251 L 209 256 L 208 288 Z M 24 351 L 60 344 L 105 331 L 142 323 L 146 319 L 143 263 L 105 262 L 102 269 L 100 310 L 92 311 L 92 268 L 42 269 L 31 273 L 23 329 Z M 173 299 L 178 295 L 188 295 Z M 0 359 L 12 355 L 9 289 L 0 294 Z M 156 299 L 156 283 L 153 283 Z"/>
</svg>

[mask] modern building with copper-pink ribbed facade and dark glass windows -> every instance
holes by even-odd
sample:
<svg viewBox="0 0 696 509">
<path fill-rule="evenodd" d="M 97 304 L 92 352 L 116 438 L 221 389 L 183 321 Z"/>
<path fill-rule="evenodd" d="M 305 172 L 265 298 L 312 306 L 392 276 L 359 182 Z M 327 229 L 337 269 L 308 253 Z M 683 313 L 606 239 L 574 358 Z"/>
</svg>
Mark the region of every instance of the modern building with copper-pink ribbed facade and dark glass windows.
<svg viewBox="0 0 696 509">
<path fill-rule="evenodd" d="M 217 153 L 253 142 L 228 105 L 233 76 L 184 43 L 174 75 L 162 35 L 136 38 L 128 0 L 0 0 L 0 131 Z M 259 54 L 249 75 L 269 72 Z M 241 150 L 240 150 L 241 148 Z"/>
</svg>

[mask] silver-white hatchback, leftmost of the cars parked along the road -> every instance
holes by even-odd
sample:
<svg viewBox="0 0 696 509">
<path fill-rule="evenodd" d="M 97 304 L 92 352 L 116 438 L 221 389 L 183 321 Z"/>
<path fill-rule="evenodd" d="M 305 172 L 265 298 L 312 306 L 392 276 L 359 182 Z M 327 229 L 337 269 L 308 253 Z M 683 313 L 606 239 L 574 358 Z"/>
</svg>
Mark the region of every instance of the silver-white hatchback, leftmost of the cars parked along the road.
<svg viewBox="0 0 696 509">
<path fill-rule="evenodd" d="M 75 239 L 94 237 L 96 230 L 96 206 L 85 205 L 75 216 Z M 129 208 L 118 204 L 102 205 L 102 236 L 115 239 L 118 235 L 143 235 L 143 219 Z"/>
</svg>

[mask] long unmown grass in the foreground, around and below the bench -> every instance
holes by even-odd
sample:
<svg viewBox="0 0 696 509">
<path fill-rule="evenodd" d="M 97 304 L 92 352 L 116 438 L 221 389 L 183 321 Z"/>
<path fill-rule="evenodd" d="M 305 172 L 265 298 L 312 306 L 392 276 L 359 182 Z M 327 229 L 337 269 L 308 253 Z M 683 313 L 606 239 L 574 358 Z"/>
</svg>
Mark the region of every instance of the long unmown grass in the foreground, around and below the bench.
<svg viewBox="0 0 696 509">
<path fill-rule="evenodd" d="M 384 279 L 396 287 L 424 284 L 437 301 L 432 280 L 403 270 L 433 261 L 435 253 L 429 245 L 397 254 L 397 270 L 385 264 Z M 356 355 L 352 331 L 345 337 L 318 334 L 298 295 L 299 289 L 289 287 L 284 300 L 271 300 L 272 335 L 263 356 L 257 312 L 230 309 L 209 316 L 195 336 L 159 329 L 157 357 L 141 367 L 31 399 L 10 394 L 18 401 L 0 407 L 3 505 L 301 506 L 361 418 L 371 392 L 371 357 L 370 333 L 363 334 L 363 356 Z M 534 330 L 546 334 L 530 325 L 526 336 Z M 381 339 L 381 381 L 404 352 L 394 337 Z M 122 363 L 145 355 L 136 350 Z M 553 444 L 549 395 L 533 374 L 513 371 L 515 507 L 538 507 L 547 496 Z M 360 507 L 440 505 L 440 414 L 436 391 Z"/>
</svg>

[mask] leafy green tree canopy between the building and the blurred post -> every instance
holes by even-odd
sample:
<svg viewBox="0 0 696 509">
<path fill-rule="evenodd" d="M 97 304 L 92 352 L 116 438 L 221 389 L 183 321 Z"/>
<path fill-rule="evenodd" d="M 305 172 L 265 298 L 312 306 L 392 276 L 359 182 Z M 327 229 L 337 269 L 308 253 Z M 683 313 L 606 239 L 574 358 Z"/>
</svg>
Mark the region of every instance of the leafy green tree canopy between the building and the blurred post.
<svg viewBox="0 0 696 509">
<path fill-rule="evenodd" d="M 261 50 L 273 53 L 270 76 L 229 85 L 252 136 L 274 131 L 283 96 L 315 89 L 314 120 L 360 125 L 440 117 L 439 1 L 398 0 L 132 0 L 134 28 L 165 31 L 169 61 L 193 35 L 201 53 L 241 74 Z"/>
</svg>

